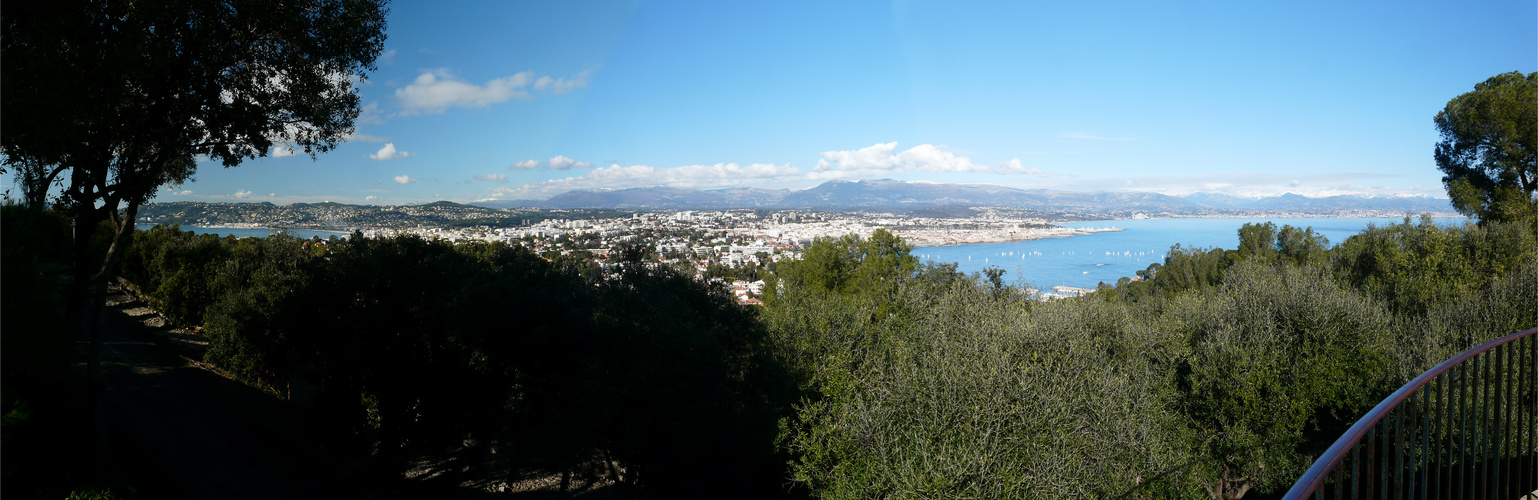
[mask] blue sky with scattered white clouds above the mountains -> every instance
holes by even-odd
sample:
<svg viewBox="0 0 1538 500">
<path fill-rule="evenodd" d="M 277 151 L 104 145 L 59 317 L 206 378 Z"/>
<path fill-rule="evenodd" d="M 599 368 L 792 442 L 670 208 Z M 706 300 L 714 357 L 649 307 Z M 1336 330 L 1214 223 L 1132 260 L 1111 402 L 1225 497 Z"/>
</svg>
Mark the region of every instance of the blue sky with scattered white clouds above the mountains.
<svg viewBox="0 0 1538 500">
<path fill-rule="evenodd" d="M 398 2 L 365 117 L 157 200 L 423 203 L 827 178 L 1429 194 L 1523 2 Z M 283 154 L 285 151 L 274 151 Z"/>
</svg>

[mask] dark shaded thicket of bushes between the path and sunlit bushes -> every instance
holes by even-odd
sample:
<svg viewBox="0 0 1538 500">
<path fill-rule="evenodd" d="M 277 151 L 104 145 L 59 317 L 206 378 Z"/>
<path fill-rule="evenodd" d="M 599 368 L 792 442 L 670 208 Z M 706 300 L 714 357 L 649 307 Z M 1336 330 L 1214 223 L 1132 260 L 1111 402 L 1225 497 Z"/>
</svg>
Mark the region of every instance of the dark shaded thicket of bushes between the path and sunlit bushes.
<svg viewBox="0 0 1538 500">
<path fill-rule="evenodd" d="M 646 494 L 778 491 L 794 386 L 724 289 L 638 252 L 588 280 L 504 245 L 312 243 L 157 228 L 129 269 L 206 318 L 209 362 L 305 398 L 355 469 L 397 477 L 471 438 L 512 471 L 603 460 Z M 191 300 L 189 277 L 214 298 Z"/>
</svg>

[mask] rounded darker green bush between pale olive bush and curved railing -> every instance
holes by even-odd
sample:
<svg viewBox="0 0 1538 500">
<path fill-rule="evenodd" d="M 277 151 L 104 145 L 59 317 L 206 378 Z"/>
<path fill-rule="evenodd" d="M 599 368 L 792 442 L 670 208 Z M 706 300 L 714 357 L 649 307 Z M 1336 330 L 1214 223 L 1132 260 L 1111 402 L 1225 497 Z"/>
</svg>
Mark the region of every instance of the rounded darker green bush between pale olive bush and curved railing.
<svg viewBox="0 0 1538 500">
<path fill-rule="evenodd" d="M 1349 422 L 1390 388 L 1390 315 L 1317 266 L 1243 263 L 1203 298 L 1170 311 L 1190 345 L 1180 406 L 1229 480 L 1289 485 L 1312 460 L 1306 428 Z"/>
</svg>

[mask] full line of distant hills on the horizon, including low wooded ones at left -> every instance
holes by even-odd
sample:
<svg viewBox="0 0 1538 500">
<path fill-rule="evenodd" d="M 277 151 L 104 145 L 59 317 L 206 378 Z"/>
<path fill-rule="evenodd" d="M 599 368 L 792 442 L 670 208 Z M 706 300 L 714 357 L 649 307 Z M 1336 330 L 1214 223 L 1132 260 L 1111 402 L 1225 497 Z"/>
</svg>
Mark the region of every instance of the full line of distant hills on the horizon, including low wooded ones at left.
<svg viewBox="0 0 1538 500">
<path fill-rule="evenodd" d="M 801 191 L 635 188 L 569 191 L 549 200 L 477 202 L 460 205 L 345 203 L 200 203 L 165 202 L 140 208 L 141 223 L 258 225 L 268 228 L 348 229 L 375 226 L 511 226 L 544 218 L 604 218 L 657 209 L 821 209 L 894 211 L 927 217 L 966 217 L 972 208 L 997 206 L 1035 212 L 1032 217 L 1092 220 L 1146 217 L 1313 215 L 1366 217 L 1453 214 L 1443 198 L 1429 197 L 1304 197 L 1283 194 L 1240 198 L 1198 192 L 1172 197 L 1157 192 L 1074 192 L 1017 189 L 994 185 L 910 183 L 898 180 L 835 180 Z M 549 212 L 558 211 L 558 212 Z M 947 214 L 947 215 L 941 215 Z"/>
</svg>

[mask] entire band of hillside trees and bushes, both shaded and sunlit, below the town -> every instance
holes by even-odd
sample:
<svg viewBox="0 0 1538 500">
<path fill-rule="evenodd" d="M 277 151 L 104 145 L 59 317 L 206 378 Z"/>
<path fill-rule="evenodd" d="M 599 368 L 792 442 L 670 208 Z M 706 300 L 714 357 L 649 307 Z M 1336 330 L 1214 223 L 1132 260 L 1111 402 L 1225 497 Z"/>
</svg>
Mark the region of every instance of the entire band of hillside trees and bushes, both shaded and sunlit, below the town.
<svg viewBox="0 0 1538 500">
<path fill-rule="evenodd" d="M 626 497 L 1240 498 L 1415 374 L 1538 326 L 1535 232 L 1406 218 L 1330 248 L 1247 225 L 1055 302 L 884 231 L 781 263 L 761 309 L 641 248 L 600 277 L 501 245 L 158 226 L 123 275 L 201 328 L 206 362 L 312 408 L 380 491 L 469 454 Z"/>
</svg>

